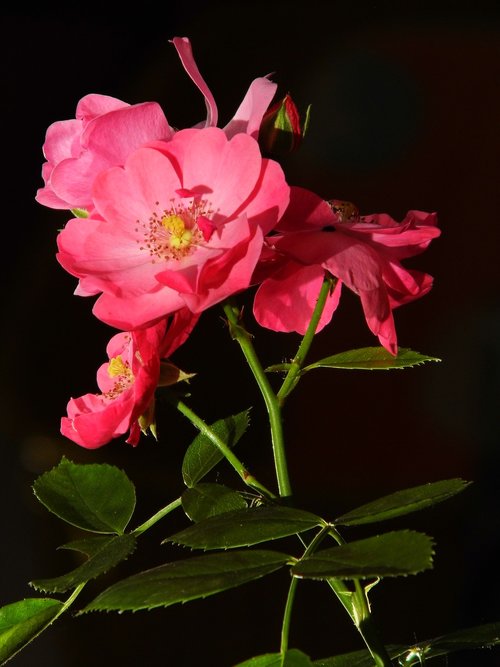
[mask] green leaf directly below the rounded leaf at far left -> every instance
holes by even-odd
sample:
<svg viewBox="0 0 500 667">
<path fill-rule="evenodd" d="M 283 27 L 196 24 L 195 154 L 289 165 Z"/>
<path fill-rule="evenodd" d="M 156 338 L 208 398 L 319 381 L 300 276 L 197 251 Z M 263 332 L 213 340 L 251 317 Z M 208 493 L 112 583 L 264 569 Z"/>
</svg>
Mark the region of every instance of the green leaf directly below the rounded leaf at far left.
<svg viewBox="0 0 500 667">
<path fill-rule="evenodd" d="M 125 560 L 134 551 L 135 545 L 133 535 L 99 536 L 71 542 L 63 548 L 82 551 L 89 556 L 88 560 L 68 574 L 52 579 L 36 579 L 31 585 L 41 591 L 64 593 L 89 579 L 95 579 Z"/>
</svg>

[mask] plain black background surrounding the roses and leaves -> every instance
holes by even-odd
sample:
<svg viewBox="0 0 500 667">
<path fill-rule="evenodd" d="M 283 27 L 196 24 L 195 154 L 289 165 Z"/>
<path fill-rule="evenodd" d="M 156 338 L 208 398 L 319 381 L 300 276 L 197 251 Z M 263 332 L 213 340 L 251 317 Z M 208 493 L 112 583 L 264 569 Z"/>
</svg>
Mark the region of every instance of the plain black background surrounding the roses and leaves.
<svg viewBox="0 0 500 667">
<path fill-rule="evenodd" d="M 363 213 L 401 219 L 437 211 L 442 237 L 408 266 L 435 276 L 424 299 L 396 311 L 399 343 L 442 358 L 391 373 L 318 371 L 290 399 L 286 431 L 300 506 L 333 518 L 392 491 L 463 477 L 455 499 L 384 529 L 411 527 L 436 540 L 435 568 L 387 580 L 372 593 L 388 643 L 411 643 L 500 618 L 498 577 L 500 332 L 498 3 L 166 2 L 22 14 L 4 11 L 2 66 L 3 326 L 1 601 L 33 595 L 27 582 L 68 571 L 56 547 L 75 534 L 34 499 L 30 485 L 62 455 L 122 467 L 138 488 L 135 522 L 182 490 L 179 465 L 194 433 L 162 412 L 160 441 L 113 442 L 94 452 L 59 435 L 70 396 L 95 389 L 113 331 L 72 295 L 55 238 L 67 215 L 37 205 L 47 126 L 71 118 L 90 92 L 130 103 L 160 102 L 171 125 L 204 118 L 204 105 L 168 40 L 192 40 L 217 100 L 220 124 L 251 80 L 273 72 L 283 95 L 312 104 L 301 150 L 284 163 L 291 184 L 347 199 Z M 254 327 L 248 300 L 248 325 Z M 264 363 L 293 354 L 297 338 L 257 332 Z M 344 292 L 311 358 L 376 344 L 354 296 Z M 217 309 L 174 357 L 198 373 L 192 404 L 208 421 L 254 405 L 254 430 L 240 457 L 272 484 L 264 411 Z M 231 474 L 222 480 L 235 483 Z M 114 581 L 182 555 L 159 546 L 182 519 L 144 536 Z M 355 538 L 366 533 L 352 531 Z M 12 664 L 179 666 L 235 664 L 276 651 L 286 575 L 166 610 L 69 615 Z M 100 587 L 89 586 L 82 601 Z M 361 648 L 321 584 L 299 588 L 291 646 L 313 658 Z M 208 656 L 208 657 L 206 657 Z M 449 665 L 497 665 L 498 651 L 453 655 Z M 436 661 L 439 664 L 439 659 Z M 444 664 L 444 661 L 441 663 Z"/>
</svg>

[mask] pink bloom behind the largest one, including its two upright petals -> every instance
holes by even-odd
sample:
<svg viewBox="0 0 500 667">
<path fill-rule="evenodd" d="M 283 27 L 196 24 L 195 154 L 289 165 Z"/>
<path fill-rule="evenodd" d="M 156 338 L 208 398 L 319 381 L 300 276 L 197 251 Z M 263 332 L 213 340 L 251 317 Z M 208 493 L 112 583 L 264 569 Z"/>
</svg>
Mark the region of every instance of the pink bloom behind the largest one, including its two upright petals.
<svg viewBox="0 0 500 667">
<path fill-rule="evenodd" d="M 217 106 L 201 76 L 186 37 L 172 40 L 181 62 L 205 97 L 206 121 L 200 126 L 217 125 Z M 234 118 L 225 128 L 232 137 L 238 132 L 257 137 L 276 84 L 266 77 L 255 79 Z M 47 130 L 42 166 L 44 187 L 36 200 L 50 208 L 92 208 L 91 190 L 95 177 L 113 166 L 123 166 L 130 153 L 151 141 L 169 141 L 174 134 L 159 104 L 129 105 L 107 95 L 86 95 L 77 105 L 76 117 L 53 123 Z"/>
</svg>

